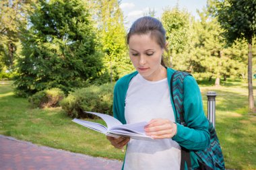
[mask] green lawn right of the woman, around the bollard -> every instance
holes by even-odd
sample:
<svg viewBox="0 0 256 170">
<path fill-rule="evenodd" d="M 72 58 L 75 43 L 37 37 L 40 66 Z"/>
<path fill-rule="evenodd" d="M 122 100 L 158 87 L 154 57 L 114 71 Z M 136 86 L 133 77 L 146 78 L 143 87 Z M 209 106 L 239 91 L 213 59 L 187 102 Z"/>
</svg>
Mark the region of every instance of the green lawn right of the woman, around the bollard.
<svg viewBox="0 0 256 170">
<path fill-rule="evenodd" d="M 256 81 L 253 82 L 255 85 Z M 204 110 L 207 91 L 216 91 L 216 130 L 227 169 L 256 169 L 256 115 L 248 114 L 246 81 L 226 81 L 221 87 L 200 85 Z M 255 91 L 254 91 L 255 95 Z"/>
</svg>

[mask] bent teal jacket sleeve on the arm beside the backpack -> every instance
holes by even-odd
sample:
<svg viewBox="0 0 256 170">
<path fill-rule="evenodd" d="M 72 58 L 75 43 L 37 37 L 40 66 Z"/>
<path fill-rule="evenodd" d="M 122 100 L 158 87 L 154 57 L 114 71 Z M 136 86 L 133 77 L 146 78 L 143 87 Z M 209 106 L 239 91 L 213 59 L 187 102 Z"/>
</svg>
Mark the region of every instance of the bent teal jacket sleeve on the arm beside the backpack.
<svg viewBox="0 0 256 170">
<path fill-rule="evenodd" d="M 210 144 L 208 120 L 203 112 L 203 102 L 197 82 L 192 76 L 183 81 L 184 120 L 187 126 L 177 123 L 177 134 L 172 138 L 189 150 L 203 150 Z"/>
</svg>

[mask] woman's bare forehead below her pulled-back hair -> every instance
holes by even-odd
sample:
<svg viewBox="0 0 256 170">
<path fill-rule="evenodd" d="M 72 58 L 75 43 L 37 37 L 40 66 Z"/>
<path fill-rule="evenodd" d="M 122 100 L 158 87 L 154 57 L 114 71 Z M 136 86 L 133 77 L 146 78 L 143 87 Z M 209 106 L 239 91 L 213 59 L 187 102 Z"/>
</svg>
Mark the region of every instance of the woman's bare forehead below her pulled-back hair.
<svg viewBox="0 0 256 170">
<path fill-rule="evenodd" d="M 156 42 L 155 38 L 152 38 L 150 34 L 133 34 L 129 39 L 129 48 L 136 50 L 137 48 L 148 50 L 160 48 L 160 45 Z"/>
</svg>

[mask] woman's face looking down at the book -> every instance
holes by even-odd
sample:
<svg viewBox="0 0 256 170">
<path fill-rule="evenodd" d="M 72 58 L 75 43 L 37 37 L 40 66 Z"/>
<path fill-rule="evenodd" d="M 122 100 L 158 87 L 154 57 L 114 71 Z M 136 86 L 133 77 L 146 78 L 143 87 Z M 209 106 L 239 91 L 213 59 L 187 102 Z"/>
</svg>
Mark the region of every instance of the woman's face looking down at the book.
<svg viewBox="0 0 256 170">
<path fill-rule="evenodd" d="M 144 79 L 158 81 L 166 77 L 161 65 L 164 50 L 149 34 L 132 35 L 128 45 L 131 62 Z"/>
</svg>

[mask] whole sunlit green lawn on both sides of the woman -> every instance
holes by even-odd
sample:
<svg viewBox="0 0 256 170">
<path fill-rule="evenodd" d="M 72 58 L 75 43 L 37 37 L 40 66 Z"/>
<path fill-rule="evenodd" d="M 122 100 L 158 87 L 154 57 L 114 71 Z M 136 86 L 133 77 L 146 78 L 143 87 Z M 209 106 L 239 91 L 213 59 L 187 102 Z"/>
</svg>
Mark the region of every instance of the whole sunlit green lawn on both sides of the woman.
<svg viewBox="0 0 256 170">
<path fill-rule="evenodd" d="M 216 130 L 226 168 L 256 169 L 256 116 L 247 113 L 247 82 L 228 80 L 221 87 L 207 81 L 199 83 L 205 111 L 205 94 L 217 93 Z M 124 158 L 124 153 L 111 146 L 103 134 L 71 122 L 61 108 L 30 108 L 27 99 L 13 95 L 11 81 L 0 81 L 0 108 L 0 134 L 94 157 Z"/>
</svg>

